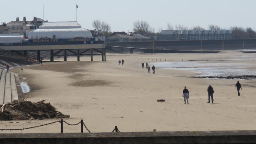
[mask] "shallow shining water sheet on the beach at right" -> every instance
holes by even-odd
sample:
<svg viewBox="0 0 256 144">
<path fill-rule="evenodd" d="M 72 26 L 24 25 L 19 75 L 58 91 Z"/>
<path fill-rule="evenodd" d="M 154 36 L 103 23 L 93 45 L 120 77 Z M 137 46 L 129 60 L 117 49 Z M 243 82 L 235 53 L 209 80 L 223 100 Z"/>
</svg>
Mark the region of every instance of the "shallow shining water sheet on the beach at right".
<svg viewBox="0 0 256 144">
<path fill-rule="evenodd" d="M 174 69 L 195 72 L 196 76 L 241 76 L 256 75 L 256 70 L 250 70 L 254 65 L 223 62 L 223 61 L 182 61 L 182 62 L 151 62 L 156 69 Z"/>
</svg>

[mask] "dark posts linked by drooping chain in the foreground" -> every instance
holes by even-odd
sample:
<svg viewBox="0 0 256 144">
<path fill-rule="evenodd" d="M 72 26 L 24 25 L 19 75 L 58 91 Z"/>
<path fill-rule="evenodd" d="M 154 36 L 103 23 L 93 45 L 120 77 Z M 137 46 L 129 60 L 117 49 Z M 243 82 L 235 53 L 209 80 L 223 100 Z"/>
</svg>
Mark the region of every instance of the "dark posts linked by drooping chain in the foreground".
<svg viewBox="0 0 256 144">
<path fill-rule="evenodd" d="M 63 123 L 67 124 L 67 125 L 70 125 L 70 126 L 76 126 L 76 125 L 79 125 L 81 124 L 81 133 L 83 133 L 83 127 L 85 127 L 85 129 L 90 133 L 90 130 L 86 127 L 85 123 L 83 122 L 83 120 L 81 119 L 80 122 L 78 123 L 75 123 L 75 124 L 70 124 L 70 123 L 67 123 L 65 120 L 61 119 L 61 120 L 58 120 L 58 121 L 55 121 L 55 122 L 51 122 L 51 123 L 46 123 L 46 124 L 43 124 L 43 125 L 38 125 L 38 126 L 32 126 L 32 127 L 26 127 L 26 128 L 21 128 L 21 129 L 0 129 L 0 131 L 13 131 L 13 130 L 27 130 L 27 129 L 33 129 L 33 128 L 36 128 L 36 127 L 41 127 L 41 126 L 47 126 L 47 125 L 51 125 L 53 123 L 60 123 L 60 132 L 63 133 Z M 115 129 L 112 131 L 112 132 L 120 132 L 117 128 L 117 126 L 115 126 Z"/>
</svg>

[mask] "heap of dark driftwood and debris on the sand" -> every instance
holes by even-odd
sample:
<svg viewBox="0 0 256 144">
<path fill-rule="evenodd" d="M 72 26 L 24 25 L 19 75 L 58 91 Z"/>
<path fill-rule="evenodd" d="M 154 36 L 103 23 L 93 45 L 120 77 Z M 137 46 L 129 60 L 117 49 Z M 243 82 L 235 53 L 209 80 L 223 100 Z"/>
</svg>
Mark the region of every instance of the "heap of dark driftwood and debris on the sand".
<svg viewBox="0 0 256 144">
<path fill-rule="evenodd" d="M 0 120 L 29 120 L 29 119 L 51 119 L 51 118 L 69 118 L 56 111 L 50 103 L 43 101 L 13 101 L 7 102 L 4 107 L 0 105 Z M 2 111 L 3 109 L 3 111 Z"/>
</svg>

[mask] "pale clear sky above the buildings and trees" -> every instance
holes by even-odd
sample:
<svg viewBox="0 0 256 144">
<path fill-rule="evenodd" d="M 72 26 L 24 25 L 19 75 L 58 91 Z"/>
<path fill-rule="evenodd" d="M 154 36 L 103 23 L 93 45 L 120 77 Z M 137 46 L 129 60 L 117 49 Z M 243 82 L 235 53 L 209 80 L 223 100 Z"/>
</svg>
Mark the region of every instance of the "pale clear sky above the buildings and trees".
<svg viewBox="0 0 256 144">
<path fill-rule="evenodd" d="M 76 4 L 78 9 L 76 9 Z M 0 23 L 32 21 L 77 21 L 93 30 L 96 19 L 111 26 L 112 32 L 131 32 L 135 21 L 147 21 L 155 32 L 167 29 L 167 23 L 188 28 L 209 24 L 223 29 L 231 26 L 256 30 L 256 0 L 1 0 Z"/>
</svg>

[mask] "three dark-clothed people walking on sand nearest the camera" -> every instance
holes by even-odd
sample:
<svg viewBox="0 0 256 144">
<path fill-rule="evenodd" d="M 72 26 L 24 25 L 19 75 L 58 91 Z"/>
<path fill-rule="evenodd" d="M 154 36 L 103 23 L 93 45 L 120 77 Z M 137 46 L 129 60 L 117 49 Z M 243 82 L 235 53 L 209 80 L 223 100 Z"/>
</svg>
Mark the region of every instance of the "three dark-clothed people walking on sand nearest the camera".
<svg viewBox="0 0 256 144">
<path fill-rule="evenodd" d="M 235 86 L 237 87 L 237 91 L 238 91 L 238 96 L 240 96 L 240 89 L 242 90 L 242 86 L 239 83 L 239 80 L 237 81 L 237 83 L 235 84 Z M 210 103 L 210 99 L 211 99 L 211 103 L 213 103 L 213 87 L 211 86 L 211 84 L 208 84 L 208 88 L 207 88 L 207 92 L 208 92 L 208 102 Z M 182 93 L 182 97 L 184 97 L 184 104 L 188 104 L 188 98 L 189 98 L 189 91 L 188 89 L 186 89 L 186 86 L 184 87 L 183 93 Z"/>
</svg>

